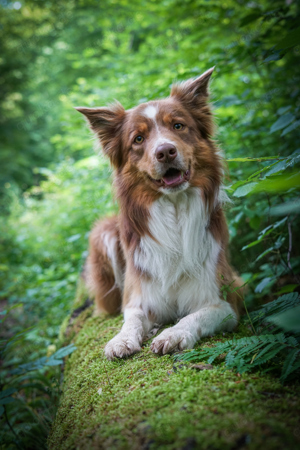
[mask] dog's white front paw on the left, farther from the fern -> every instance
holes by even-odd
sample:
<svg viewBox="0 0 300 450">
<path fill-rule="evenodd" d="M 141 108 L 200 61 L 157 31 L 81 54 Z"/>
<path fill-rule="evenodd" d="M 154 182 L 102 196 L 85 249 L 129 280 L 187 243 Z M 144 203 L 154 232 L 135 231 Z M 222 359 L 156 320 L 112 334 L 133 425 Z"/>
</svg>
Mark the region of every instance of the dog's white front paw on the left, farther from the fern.
<svg viewBox="0 0 300 450">
<path fill-rule="evenodd" d="M 109 341 L 104 349 L 107 359 L 124 358 L 141 350 L 140 343 L 136 336 L 119 333 Z"/>
</svg>

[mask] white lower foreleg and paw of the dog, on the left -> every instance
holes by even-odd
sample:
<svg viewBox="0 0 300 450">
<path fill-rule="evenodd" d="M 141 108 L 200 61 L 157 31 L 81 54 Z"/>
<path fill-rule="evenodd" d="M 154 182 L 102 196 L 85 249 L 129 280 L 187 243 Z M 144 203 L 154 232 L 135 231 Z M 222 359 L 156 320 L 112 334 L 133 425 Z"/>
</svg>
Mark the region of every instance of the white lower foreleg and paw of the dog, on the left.
<svg viewBox="0 0 300 450">
<path fill-rule="evenodd" d="M 142 309 L 124 309 L 125 323 L 120 331 L 105 347 L 108 359 L 123 358 L 141 350 L 142 342 L 153 326 Z"/>
</svg>

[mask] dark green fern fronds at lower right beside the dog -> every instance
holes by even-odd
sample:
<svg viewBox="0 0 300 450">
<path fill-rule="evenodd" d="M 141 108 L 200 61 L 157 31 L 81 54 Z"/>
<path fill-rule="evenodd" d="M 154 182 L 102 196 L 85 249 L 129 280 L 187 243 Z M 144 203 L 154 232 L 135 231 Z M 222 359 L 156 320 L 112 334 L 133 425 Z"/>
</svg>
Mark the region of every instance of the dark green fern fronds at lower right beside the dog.
<svg viewBox="0 0 300 450">
<path fill-rule="evenodd" d="M 233 337 L 232 340 L 214 344 L 212 347 L 204 346 L 175 355 L 175 359 L 193 362 L 207 360 L 211 364 L 226 355 L 224 363 L 227 369 L 234 369 L 239 373 L 249 372 L 255 368 L 259 368 L 262 373 L 281 370 L 280 380 L 284 383 L 300 368 L 300 334 L 278 333 L 275 332 L 277 327 L 276 330 L 269 330 L 268 327 L 269 322 L 274 323 L 274 318 L 282 317 L 282 314 L 287 312 L 291 317 L 295 317 L 295 314 L 299 313 L 299 306 L 299 294 L 283 295 L 250 313 L 252 326 L 256 326 L 253 328 L 255 335 L 241 339 Z M 262 327 L 266 322 L 268 327 Z M 288 332 L 291 331 L 288 320 L 275 322 Z M 300 331 L 299 325 L 297 331 Z"/>
</svg>

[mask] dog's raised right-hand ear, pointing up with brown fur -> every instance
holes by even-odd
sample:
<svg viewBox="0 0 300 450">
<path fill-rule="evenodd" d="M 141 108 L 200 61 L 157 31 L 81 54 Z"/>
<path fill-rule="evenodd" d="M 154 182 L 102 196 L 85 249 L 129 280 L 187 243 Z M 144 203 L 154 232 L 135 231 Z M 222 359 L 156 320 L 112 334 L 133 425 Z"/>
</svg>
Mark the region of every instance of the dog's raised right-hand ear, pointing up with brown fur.
<svg viewBox="0 0 300 450">
<path fill-rule="evenodd" d="M 183 105 L 189 108 L 197 121 L 203 137 L 213 134 L 213 120 L 208 104 L 208 84 L 214 67 L 204 72 L 200 77 L 190 78 L 182 83 L 172 85 L 171 97 L 177 98 Z"/>
</svg>

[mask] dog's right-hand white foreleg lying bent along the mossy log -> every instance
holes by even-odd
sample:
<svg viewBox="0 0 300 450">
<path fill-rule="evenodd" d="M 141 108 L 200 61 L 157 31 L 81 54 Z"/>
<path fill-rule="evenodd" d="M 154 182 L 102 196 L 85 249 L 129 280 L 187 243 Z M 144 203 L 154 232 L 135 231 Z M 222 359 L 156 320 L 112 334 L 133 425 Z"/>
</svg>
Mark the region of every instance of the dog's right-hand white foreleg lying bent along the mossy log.
<svg viewBox="0 0 300 450">
<path fill-rule="evenodd" d="M 216 332 L 232 331 L 237 325 L 237 316 L 229 303 L 219 300 L 181 319 L 174 327 L 165 329 L 153 339 L 151 350 L 166 354 L 193 348 L 201 337 Z"/>
</svg>

